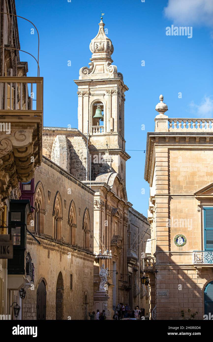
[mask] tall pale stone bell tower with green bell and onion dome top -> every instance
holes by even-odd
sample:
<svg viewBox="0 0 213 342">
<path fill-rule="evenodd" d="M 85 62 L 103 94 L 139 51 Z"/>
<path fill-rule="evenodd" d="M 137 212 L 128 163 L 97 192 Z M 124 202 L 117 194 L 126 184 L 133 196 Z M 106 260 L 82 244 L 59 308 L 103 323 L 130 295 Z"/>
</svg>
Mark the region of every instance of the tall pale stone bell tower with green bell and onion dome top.
<svg viewBox="0 0 213 342">
<path fill-rule="evenodd" d="M 119 173 L 125 183 L 125 162 L 130 158 L 124 140 L 124 93 L 128 87 L 117 66 L 112 65 L 114 47 L 105 34 L 102 18 L 98 25 L 90 43 L 90 67 L 82 67 L 79 79 L 74 80 L 78 86 L 78 129 L 89 136 L 92 163 L 97 155 L 100 165 L 106 165 L 107 160 L 107 172 Z"/>
</svg>

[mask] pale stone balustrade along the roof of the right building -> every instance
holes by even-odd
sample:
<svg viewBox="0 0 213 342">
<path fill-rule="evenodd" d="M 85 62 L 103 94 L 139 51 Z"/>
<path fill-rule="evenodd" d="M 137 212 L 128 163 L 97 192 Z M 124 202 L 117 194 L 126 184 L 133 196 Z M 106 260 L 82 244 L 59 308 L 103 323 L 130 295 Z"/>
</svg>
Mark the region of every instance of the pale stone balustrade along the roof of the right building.
<svg viewBox="0 0 213 342">
<path fill-rule="evenodd" d="M 191 132 L 212 132 L 213 119 L 168 119 L 169 132 L 191 131 Z"/>
</svg>

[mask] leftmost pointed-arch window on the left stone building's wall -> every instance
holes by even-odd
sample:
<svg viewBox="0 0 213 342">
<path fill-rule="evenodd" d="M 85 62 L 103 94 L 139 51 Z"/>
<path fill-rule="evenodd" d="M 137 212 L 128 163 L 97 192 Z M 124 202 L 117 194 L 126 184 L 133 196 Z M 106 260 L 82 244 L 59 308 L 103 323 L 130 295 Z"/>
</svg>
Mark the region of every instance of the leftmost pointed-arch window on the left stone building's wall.
<svg viewBox="0 0 213 342">
<path fill-rule="evenodd" d="M 35 189 L 35 232 L 43 234 L 44 232 L 44 215 L 45 215 L 45 197 L 44 188 L 39 181 Z"/>
</svg>

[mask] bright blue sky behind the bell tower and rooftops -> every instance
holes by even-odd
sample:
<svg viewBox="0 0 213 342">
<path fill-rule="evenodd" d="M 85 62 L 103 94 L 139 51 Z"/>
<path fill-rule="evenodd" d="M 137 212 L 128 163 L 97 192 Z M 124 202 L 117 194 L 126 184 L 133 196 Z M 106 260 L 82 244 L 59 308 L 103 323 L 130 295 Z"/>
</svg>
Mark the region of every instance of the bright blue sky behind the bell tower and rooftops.
<svg viewBox="0 0 213 342">
<path fill-rule="evenodd" d="M 169 117 L 213 115 L 212 0 L 16 0 L 17 15 L 31 20 L 40 35 L 40 76 L 44 77 L 44 126 L 77 128 L 79 69 L 88 66 L 89 43 L 98 32 L 100 12 L 114 45 L 112 59 L 129 87 L 125 93 L 127 194 L 133 207 L 147 215 L 149 185 L 144 181 L 147 132 L 154 131 L 155 106 L 163 94 Z M 187 4 L 187 5 L 186 5 Z M 164 10 L 165 9 L 165 10 Z M 192 38 L 167 36 L 171 25 L 192 26 Z M 21 49 L 37 58 L 32 25 L 18 19 Z M 34 59 L 28 76 L 37 76 Z M 67 61 L 71 60 L 71 67 Z M 141 66 L 145 61 L 145 66 Z M 178 93 L 182 98 L 178 98 Z M 141 125 L 145 130 L 141 130 Z M 141 189 L 145 194 L 141 194 Z"/>
</svg>

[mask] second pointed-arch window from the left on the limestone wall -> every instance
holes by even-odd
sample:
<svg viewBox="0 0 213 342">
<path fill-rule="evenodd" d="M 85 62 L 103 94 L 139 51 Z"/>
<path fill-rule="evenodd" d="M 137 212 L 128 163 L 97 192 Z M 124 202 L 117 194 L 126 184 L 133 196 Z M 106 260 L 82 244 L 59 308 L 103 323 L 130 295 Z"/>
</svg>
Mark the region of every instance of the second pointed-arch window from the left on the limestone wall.
<svg viewBox="0 0 213 342">
<path fill-rule="evenodd" d="M 62 239 L 62 220 L 63 220 L 63 213 L 62 213 L 62 199 L 61 195 L 57 191 L 54 200 L 53 206 L 53 231 L 54 231 L 54 238 L 57 240 Z"/>
</svg>

